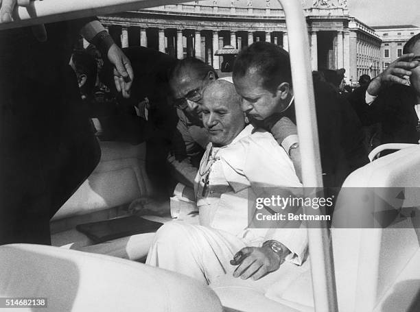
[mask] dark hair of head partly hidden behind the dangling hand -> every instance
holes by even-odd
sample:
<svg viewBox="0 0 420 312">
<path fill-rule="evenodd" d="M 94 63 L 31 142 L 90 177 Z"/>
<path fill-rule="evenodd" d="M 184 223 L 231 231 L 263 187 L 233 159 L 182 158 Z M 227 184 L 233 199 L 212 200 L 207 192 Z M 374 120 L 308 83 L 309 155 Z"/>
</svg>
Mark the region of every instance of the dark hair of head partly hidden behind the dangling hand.
<svg viewBox="0 0 420 312">
<path fill-rule="evenodd" d="M 87 79 L 83 86 L 80 87 L 80 93 L 91 96 L 97 78 L 97 62 L 93 56 L 86 51 L 73 51 L 71 56 L 77 75 L 86 75 Z"/>
</svg>

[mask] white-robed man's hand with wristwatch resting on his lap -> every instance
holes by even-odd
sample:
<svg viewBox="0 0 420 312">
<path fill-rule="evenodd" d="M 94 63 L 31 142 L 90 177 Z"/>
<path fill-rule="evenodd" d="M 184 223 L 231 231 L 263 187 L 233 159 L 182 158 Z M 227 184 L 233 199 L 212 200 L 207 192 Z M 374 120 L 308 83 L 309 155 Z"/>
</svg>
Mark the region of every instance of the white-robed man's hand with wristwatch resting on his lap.
<svg viewBox="0 0 420 312">
<path fill-rule="evenodd" d="M 233 277 L 259 280 L 266 274 L 279 269 L 281 263 L 284 262 L 283 259 L 269 247 L 242 248 L 231 260 L 231 265 L 238 265 L 233 272 Z"/>
</svg>

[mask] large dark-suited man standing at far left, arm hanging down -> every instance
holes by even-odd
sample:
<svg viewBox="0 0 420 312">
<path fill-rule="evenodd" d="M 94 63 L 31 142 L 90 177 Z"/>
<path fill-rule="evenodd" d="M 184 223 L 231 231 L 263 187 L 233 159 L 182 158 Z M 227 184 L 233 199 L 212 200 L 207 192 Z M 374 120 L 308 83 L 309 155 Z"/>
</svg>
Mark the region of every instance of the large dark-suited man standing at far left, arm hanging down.
<svg viewBox="0 0 420 312">
<path fill-rule="evenodd" d="M 1 22 L 13 5 L 3 1 Z M 124 69 L 115 82 L 127 96 L 129 62 L 101 27 L 80 19 L 0 32 L 0 244 L 49 244 L 49 219 L 100 159 L 69 59 L 89 33 Z"/>
</svg>

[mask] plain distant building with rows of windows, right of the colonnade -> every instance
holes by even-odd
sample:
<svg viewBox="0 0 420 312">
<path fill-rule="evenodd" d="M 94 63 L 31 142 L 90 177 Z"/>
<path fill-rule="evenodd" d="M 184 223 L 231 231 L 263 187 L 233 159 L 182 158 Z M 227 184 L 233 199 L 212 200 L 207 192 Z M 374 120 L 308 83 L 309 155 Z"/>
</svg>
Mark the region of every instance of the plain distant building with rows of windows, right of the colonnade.
<svg viewBox="0 0 420 312">
<path fill-rule="evenodd" d="M 403 47 L 412 36 L 419 34 L 415 25 L 376 26 L 375 32 L 382 39 L 380 51 L 381 71 L 403 54 Z"/>
</svg>

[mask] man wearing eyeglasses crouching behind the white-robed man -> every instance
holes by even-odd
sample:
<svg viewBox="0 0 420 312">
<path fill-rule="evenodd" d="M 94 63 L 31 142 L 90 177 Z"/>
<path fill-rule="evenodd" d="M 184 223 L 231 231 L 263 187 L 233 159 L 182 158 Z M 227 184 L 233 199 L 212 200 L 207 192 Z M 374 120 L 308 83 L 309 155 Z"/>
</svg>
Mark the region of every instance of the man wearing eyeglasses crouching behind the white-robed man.
<svg viewBox="0 0 420 312">
<path fill-rule="evenodd" d="M 217 78 L 213 67 L 196 58 L 180 60 L 170 71 L 170 88 L 179 120 L 168 161 L 173 176 L 182 183 L 177 184 L 175 193 L 186 195 L 191 200 L 194 200 L 191 187 L 202 154 L 209 143 L 201 119 L 202 90 Z M 184 188 L 184 185 L 189 189 Z"/>
</svg>

